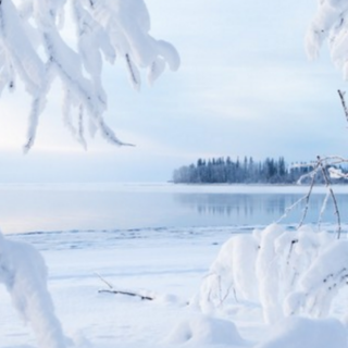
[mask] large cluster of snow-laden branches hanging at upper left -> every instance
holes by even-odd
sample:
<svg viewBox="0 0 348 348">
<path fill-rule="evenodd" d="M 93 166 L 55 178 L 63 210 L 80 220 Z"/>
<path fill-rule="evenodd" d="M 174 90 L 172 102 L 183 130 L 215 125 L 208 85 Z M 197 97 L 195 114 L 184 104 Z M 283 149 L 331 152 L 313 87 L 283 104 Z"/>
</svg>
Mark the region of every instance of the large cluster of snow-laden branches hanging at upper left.
<svg viewBox="0 0 348 348">
<path fill-rule="evenodd" d="M 67 13 L 72 13 L 73 20 L 66 22 L 75 26 L 76 45 L 62 30 Z M 7 86 L 13 90 L 18 77 L 33 98 L 25 151 L 35 142 L 39 115 L 55 79 L 64 90 L 65 124 L 83 146 L 84 117 L 108 141 L 124 145 L 103 120 L 108 100 L 102 64 L 124 60 L 135 89 L 140 88 L 140 69 L 148 71 L 149 83 L 166 65 L 176 71 L 175 48 L 154 39 L 149 30 L 142 0 L 0 1 L 0 94 Z"/>
</svg>

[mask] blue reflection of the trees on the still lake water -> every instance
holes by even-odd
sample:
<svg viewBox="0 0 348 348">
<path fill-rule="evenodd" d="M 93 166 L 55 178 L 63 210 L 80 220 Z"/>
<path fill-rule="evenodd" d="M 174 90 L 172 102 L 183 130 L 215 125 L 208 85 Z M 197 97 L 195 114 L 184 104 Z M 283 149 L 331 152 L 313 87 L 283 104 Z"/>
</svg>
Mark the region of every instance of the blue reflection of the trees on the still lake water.
<svg viewBox="0 0 348 348">
<path fill-rule="evenodd" d="M 220 217 L 236 221 L 236 223 L 258 224 L 264 221 L 273 222 L 281 219 L 285 212 L 284 222 L 296 223 L 303 215 L 306 200 L 302 195 L 291 194 L 179 194 L 175 200 L 198 213 L 201 217 Z M 325 195 L 312 195 L 306 222 L 316 223 L 325 199 Z M 301 201 L 300 201 L 301 200 Z M 337 201 L 343 221 L 347 221 L 348 201 L 345 195 L 338 195 Z M 287 209 L 297 203 L 290 211 Z M 322 214 L 325 222 L 336 222 L 334 207 L 327 201 Z"/>
</svg>

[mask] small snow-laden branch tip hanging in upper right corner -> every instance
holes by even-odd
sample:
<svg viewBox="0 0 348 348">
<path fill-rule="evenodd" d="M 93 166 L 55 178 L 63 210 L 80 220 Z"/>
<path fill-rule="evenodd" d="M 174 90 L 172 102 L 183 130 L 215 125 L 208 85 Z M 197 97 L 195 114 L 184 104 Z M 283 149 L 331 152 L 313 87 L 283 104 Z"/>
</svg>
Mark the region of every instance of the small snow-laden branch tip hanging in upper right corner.
<svg viewBox="0 0 348 348">
<path fill-rule="evenodd" d="M 332 61 L 348 79 L 348 2 L 346 0 L 319 1 L 318 11 L 306 37 L 309 58 L 319 57 L 324 40 L 328 41 Z"/>
</svg>

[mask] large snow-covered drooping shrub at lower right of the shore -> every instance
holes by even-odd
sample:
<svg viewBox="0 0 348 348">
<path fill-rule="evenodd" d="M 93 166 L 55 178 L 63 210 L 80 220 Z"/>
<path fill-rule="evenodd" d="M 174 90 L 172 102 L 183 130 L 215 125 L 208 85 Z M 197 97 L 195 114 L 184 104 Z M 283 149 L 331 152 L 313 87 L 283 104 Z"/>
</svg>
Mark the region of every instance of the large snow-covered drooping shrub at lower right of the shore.
<svg viewBox="0 0 348 348">
<path fill-rule="evenodd" d="M 195 301 L 203 311 L 227 300 L 259 301 L 266 323 L 298 313 L 325 318 L 348 284 L 347 270 L 347 240 L 310 226 L 286 231 L 272 224 L 227 240 Z"/>
</svg>

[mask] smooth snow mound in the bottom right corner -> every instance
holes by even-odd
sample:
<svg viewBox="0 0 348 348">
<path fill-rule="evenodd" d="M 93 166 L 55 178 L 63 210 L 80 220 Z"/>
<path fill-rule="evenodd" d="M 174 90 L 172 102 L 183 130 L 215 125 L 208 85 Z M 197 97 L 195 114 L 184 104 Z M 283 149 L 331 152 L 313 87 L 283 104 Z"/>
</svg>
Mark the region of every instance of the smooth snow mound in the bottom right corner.
<svg viewBox="0 0 348 348">
<path fill-rule="evenodd" d="M 334 319 L 291 316 L 272 327 L 272 335 L 254 348 L 345 348 L 347 332 Z"/>
</svg>

